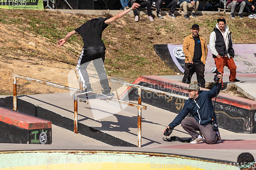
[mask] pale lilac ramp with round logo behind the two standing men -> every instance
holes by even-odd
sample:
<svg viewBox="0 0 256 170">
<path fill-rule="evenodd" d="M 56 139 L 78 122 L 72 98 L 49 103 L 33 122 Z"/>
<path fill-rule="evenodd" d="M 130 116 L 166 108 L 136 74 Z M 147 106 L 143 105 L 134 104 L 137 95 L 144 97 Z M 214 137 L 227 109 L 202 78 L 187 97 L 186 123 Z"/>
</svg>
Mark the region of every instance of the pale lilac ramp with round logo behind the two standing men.
<svg viewBox="0 0 256 170">
<path fill-rule="evenodd" d="M 214 58 L 209 50 L 205 64 L 205 73 L 210 72 L 215 66 Z M 256 43 L 238 43 L 233 44 L 234 62 L 237 65 L 237 73 L 254 73 L 256 72 Z M 154 50 L 158 57 L 168 66 L 181 73 L 184 72 L 185 55 L 183 53 L 183 44 L 154 44 Z M 224 67 L 224 72 L 229 72 Z"/>
</svg>

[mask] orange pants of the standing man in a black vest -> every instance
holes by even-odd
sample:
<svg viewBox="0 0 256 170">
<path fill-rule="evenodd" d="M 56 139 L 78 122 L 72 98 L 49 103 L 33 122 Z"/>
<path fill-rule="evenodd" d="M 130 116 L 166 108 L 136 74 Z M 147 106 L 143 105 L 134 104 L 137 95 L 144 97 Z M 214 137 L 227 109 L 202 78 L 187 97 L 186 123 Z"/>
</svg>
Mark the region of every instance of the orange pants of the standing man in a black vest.
<svg viewBox="0 0 256 170">
<path fill-rule="evenodd" d="M 230 75 L 229 75 L 229 81 L 232 82 L 236 80 L 237 76 L 237 66 L 234 63 L 234 60 L 232 57 L 221 57 L 221 58 L 214 58 L 215 65 L 218 69 L 219 72 L 224 72 L 224 66 L 227 66 L 228 69 L 230 70 Z M 222 82 L 222 87 L 223 87 L 223 82 Z"/>
</svg>

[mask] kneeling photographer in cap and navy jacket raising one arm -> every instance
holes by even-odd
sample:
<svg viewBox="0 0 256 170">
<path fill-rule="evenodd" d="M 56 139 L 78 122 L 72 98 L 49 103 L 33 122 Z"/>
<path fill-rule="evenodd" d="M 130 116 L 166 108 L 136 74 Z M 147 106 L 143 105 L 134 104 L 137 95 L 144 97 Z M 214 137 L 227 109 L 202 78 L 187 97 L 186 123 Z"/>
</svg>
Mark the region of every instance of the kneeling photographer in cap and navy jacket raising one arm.
<svg viewBox="0 0 256 170">
<path fill-rule="evenodd" d="M 218 129 L 216 114 L 211 99 L 217 96 L 222 87 L 222 75 L 219 74 L 215 86 L 209 91 L 200 91 L 197 84 L 188 87 L 189 99 L 185 102 L 181 112 L 172 123 L 164 130 L 164 135 L 169 136 L 173 129 L 180 125 L 192 136 L 190 143 L 201 143 L 203 137 L 197 131 L 201 131 L 208 144 L 220 143 L 221 136 Z M 186 117 L 190 113 L 193 117 Z M 169 133 L 166 133 L 169 132 Z"/>
</svg>

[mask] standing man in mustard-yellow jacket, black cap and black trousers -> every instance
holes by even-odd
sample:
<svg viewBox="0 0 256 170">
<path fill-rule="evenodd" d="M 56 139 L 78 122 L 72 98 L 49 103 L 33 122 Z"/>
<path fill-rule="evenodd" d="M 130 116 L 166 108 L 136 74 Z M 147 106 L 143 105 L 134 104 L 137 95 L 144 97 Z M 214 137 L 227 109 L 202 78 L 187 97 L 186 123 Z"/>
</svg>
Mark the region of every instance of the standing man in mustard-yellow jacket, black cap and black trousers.
<svg viewBox="0 0 256 170">
<path fill-rule="evenodd" d="M 191 34 L 183 41 L 185 55 L 185 71 L 182 83 L 190 84 L 194 72 L 197 74 L 199 87 L 205 87 L 204 65 L 208 54 L 206 41 L 199 34 L 199 25 L 191 27 Z"/>
</svg>

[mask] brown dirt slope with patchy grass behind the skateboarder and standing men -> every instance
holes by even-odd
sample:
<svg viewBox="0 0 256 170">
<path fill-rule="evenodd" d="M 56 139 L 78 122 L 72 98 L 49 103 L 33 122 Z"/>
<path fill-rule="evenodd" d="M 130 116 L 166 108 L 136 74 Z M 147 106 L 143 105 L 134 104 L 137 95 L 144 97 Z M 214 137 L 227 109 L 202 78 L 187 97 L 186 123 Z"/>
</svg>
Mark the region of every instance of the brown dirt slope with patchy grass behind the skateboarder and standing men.
<svg viewBox="0 0 256 170">
<path fill-rule="evenodd" d="M 82 48 L 79 35 L 56 48 L 55 43 L 98 16 L 40 10 L 0 9 L 0 94 L 12 94 L 9 72 L 69 86 L 67 75 L 75 69 Z M 200 35 L 209 35 L 220 15 L 203 15 L 190 20 L 165 16 L 149 21 L 141 15 L 125 17 L 109 25 L 103 32 L 106 46 L 105 68 L 111 77 L 133 82 L 141 75 L 176 75 L 155 54 L 153 44 L 182 43 L 193 23 L 200 26 Z M 234 43 L 255 43 L 256 19 L 231 19 L 225 16 Z M 211 56 L 209 56 L 211 57 Z M 18 94 L 63 92 L 58 88 L 18 79 Z"/>
</svg>

